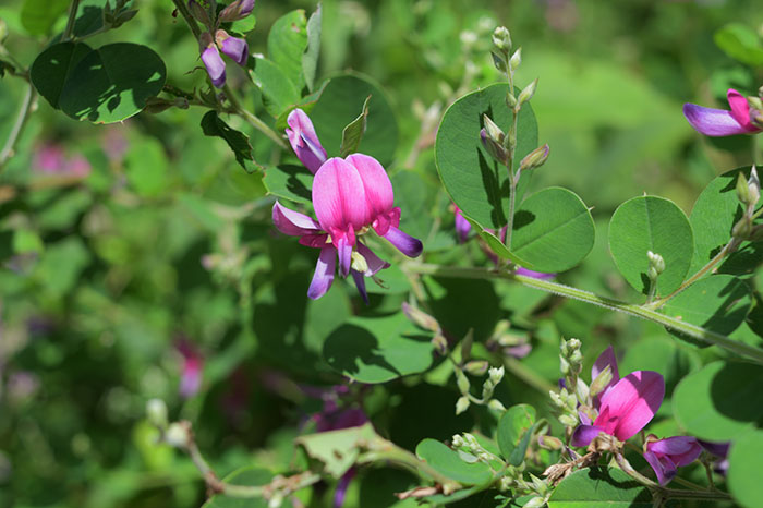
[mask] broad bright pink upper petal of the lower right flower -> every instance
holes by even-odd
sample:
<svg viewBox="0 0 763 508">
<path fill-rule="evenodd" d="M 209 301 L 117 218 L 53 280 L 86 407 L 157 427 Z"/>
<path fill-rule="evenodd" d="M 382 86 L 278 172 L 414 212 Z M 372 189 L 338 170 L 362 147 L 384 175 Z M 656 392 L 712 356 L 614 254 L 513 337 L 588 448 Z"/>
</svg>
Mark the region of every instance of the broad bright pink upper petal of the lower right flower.
<svg viewBox="0 0 763 508">
<path fill-rule="evenodd" d="M 617 382 L 602 397 L 594 425 L 620 440 L 633 437 L 659 409 L 665 397 L 665 379 L 653 371 L 637 371 Z"/>
</svg>

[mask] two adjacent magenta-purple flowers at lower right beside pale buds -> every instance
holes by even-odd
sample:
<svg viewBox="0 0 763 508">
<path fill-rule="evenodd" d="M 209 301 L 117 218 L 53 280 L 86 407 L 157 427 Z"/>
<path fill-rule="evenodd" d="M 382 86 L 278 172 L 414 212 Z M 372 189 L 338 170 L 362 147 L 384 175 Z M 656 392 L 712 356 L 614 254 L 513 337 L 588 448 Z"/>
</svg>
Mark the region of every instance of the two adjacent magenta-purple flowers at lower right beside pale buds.
<svg viewBox="0 0 763 508">
<path fill-rule="evenodd" d="M 617 359 L 607 348 L 591 370 L 592 407 L 580 407 L 581 425 L 572 434 L 572 446 L 589 446 L 601 433 L 626 442 L 638 434 L 663 403 L 665 379 L 653 371 L 637 371 L 620 378 Z M 665 439 L 650 435 L 644 444 L 644 459 L 654 469 L 661 485 L 700 456 L 702 446 L 694 437 Z"/>
</svg>

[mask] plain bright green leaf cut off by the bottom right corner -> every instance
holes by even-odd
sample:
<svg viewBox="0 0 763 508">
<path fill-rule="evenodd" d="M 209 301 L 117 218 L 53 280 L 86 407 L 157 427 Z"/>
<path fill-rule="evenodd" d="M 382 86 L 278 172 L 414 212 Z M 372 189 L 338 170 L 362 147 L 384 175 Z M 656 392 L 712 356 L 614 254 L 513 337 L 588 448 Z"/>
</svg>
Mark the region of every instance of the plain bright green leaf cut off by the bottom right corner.
<svg viewBox="0 0 763 508">
<path fill-rule="evenodd" d="M 756 508 L 763 499 L 761 482 L 763 431 L 758 430 L 736 439 L 728 457 L 728 489 L 747 508 Z"/>
</svg>

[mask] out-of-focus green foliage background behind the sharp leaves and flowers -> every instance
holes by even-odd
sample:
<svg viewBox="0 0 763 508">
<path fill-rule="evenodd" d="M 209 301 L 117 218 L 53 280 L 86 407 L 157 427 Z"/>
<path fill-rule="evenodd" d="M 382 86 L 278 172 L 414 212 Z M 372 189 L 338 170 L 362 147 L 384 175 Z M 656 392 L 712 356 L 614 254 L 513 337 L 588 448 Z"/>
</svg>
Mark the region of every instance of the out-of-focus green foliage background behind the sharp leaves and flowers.
<svg viewBox="0 0 763 508">
<path fill-rule="evenodd" d="M 46 47 L 45 35 L 65 24 L 63 8 L 25 23 L 24 10 L 35 3 L 0 7 L 5 44 L 25 66 Z M 325 0 L 317 76 L 352 70 L 382 86 L 399 124 L 400 142 L 387 157 L 401 228 L 423 239 L 429 261 L 484 264 L 474 242 L 456 245 L 433 130 L 422 125 L 436 125 L 449 102 L 499 81 L 489 34 L 509 26 L 525 48 L 519 85 L 540 77 L 532 105 L 541 143 L 552 147 L 532 188 L 566 185 L 594 206 L 594 251 L 561 280 L 637 298 L 608 256 L 606 222 L 621 202 L 644 192 L 689 213 L 717 172 L 751 162 L 751 138 L 702 140 L 681 104 L 713 104 L 730 85 L 755 90 L 761 68 L 732 59 L 735 50 L 722 50 L 714 34 L 731 22 L 756 31 L 759 7 L 750 0 Z M 133 21 L 88 43 L 148 46 L 164 59 L 167 83 L 203 86 L 197 43 L 171 3 L 143 0 L 136 8 Z M 252 53 L 267 53 L 268 28 L 298 8 L 315 5 L 258 0 Z M 726 48 L 739 31 L 727 32 Z M 245 81 L 229 65 L 229 82 Z M 0 81 L 0 140 L 23 94 L 22 80 Z M 246 94 L 247 105 L 263 109 L 258 92 Z M 367 307 L 343 282 L 310 301 L 315 252 L 275 233 L 262 172 L 245 172 L 223 140 L 205 136 L 204 112 L 170 108 L 101 126 L 40 99 L 0 173 L 0 506 L 199 506 L 205 493 L 195 469 L 155 446 L 155 431 L 143 420 L 153 397 L 168 402 L 171 418 L 194 422 L 199 447 L 221 474 L 242 465 L 298 467 L 304 457 L 292 439 L 322 411 L 314 391 L 342 383 L 330 354 L 343 349 L 348 330 L 335 330 L 353 314 L 360 320 L 392 314 L 404 300 L 408 282 L 390 273 L 392 289 L 372 292 Z M 279 162 L 262 134 L 239 118 L 225 121 L 249 135 L 255 160 Z M 584 339 L 590 363 L 607 343 L 622 350 L 649 337 L 662 344 L 661 358 L 674 359 L 666 363 L 676 379 L 695 371 L 700 356 L 716 354 L 666 344 L 654 325 L 526 288 L 425 278 L 419 290 L 455 339 L 471 328 L 485 343 L 498 319 L 510 319 L 533 346 L 522 364 L 546 383 L 558 377 L 560 335 Z M 179 386 L 191 354 L 202 359 L 201 389 L 184 397 Z M 474 354 L 491 352 L 475 347 Z M 631 349 L 626 358 L 633 368 L 645 367 L 637 355 L 649 353 Z M 458 390 L 438 361 L 412 378 L 351 385 L 343 403 L 362 403 L 383 435 L 409 449 L 474 425 L 495 428 L 486 410 L 453 415 Z M 507 407 L 529 402 L 545 411 L 546 394 L 514 373 L 507 378 L 497 391 Z M 669 421 L 665 407 L 661 415 Z M 395 471 L 360 474 L 346 506 L 372 506 L 363 499 L 391 506 L 390 493 L 412 485 Z M 303 501 L 325 506 L 331 488 Z"/>
</svg>

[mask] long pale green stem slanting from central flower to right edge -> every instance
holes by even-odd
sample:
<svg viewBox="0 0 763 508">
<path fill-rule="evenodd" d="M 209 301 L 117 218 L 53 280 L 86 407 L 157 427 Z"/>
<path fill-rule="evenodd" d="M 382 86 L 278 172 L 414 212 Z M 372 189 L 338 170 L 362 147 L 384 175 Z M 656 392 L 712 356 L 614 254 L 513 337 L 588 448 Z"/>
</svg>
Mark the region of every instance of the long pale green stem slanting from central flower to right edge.
<svg viewBox="0 0 763 508">
<path fill-rule="evenodd" d="M 541 291 L 571 298 L 573 300 L 580 300 L 581 302 L 590 303 L 592 305 L 598 305 L 610 311 L 622 312 L 631 316 L 657 323 L 675 331 L 688 335 L 694 339 L 704 340 L 763 365 L 763 349 L 754 348 L 743 342 L 738 342 L 724 335 L 716 334 L 715 331 L 702 328 L 701 326 L 692 325 L 690 323 L 666 316 L 665 314 L 661 314 L 655 310 L 644 307 L 642 305 L 634 305 L 606 297 L 600 297 L 598 294 L 582 289 L 572 288 L 557 282 L 550 282 L 547 280 L 534 279 L 523 275 L 511 274 L 508 271 L 496 271 L 486 268 L 439 266 L 412 262 L 403 264 L 402 268 L 404 270 L 410 270 L 417 274 L 439 277 L 513 280 L 522 286 L 526 286 L 528 288 L 538 289 Z"/>
</svg>

